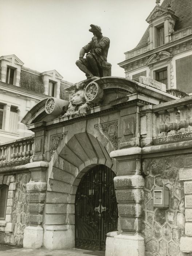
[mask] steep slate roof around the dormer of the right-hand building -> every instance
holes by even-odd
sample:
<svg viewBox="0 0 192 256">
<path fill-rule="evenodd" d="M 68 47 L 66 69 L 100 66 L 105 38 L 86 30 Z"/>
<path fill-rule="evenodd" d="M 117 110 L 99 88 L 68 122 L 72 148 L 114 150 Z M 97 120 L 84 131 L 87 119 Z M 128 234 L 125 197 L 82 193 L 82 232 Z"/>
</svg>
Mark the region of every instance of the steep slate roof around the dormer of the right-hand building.
<svg viewBox="0 0 192 256">
<path fill-rule="evenodd" d="M 161 7 L 166 9 L 168 4 L 171 4 L 170 9 L 175 12 L 177 17 L 179 17 L 179 20 L 176 20 L 175 22 L 175 31 L 192 26 L 192 0 L 164 0 Z M 149 27 L 146 29 L 140 42 L 135 48 L 148 44 L 148 37 Z"/>
</svg>

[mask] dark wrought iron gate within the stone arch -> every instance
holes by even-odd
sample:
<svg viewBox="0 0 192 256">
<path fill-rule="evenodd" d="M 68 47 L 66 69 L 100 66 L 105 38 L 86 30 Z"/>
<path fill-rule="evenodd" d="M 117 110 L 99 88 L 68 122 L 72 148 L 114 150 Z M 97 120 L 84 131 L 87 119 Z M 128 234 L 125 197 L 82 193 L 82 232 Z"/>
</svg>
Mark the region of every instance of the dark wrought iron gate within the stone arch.
<svg viewBox="0 0 192 256">
<path fill-rule="evenodd" d="M 75 247 L 105 251 L 106 234 L 117 230 L 118 209 L 113 178 L 105 165 L 89 170 L 75 197 Z"/>
</svg>

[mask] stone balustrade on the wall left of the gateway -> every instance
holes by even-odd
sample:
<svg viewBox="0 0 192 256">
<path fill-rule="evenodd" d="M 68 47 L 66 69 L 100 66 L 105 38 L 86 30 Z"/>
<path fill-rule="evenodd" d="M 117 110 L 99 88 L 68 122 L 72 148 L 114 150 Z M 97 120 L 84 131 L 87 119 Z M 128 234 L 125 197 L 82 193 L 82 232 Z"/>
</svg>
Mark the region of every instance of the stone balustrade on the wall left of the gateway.
<svg viewBox="0 0 192 256">
<path fill-rule="evenodd" d="M 30 159 L 34 154 L 34 137 L 0 145 L 0 164 Z"/>
</svg>

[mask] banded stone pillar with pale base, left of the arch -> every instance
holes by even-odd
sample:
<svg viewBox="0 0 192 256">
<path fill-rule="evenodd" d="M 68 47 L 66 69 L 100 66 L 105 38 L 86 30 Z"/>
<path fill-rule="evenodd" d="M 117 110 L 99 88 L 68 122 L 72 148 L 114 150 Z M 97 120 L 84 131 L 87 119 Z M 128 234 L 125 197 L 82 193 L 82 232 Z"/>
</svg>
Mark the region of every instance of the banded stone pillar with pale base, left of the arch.
<svg viewBox="0 0 192 256">
<path fill-rule="evenodd" d="M 47 163 L 44 163 L 44 166 L 31 167 L 31 181 L 27 183 L 27 193 L 30 204 L 30 226 L 26 227 L 24 230 L 23 247 L 26 248 L 37 249 L 43 245 L 44 230 L 42 222 L 47 189 L 45 182 Z"/>
</svg>

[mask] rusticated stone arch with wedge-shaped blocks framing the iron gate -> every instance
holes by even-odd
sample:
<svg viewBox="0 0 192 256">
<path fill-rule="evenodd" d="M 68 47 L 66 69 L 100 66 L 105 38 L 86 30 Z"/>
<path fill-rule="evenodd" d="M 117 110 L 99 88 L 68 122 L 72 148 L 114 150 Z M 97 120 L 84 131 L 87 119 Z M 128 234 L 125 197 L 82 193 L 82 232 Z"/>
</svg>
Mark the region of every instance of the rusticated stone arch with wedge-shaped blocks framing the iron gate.
<svg viewBox="0 0 192 256">
<path fill-rule="evenodd" d="M 48 171 L 44 246 L 49 249 L 74 247 L 75 195 L 85 173 L 95 165 L 113 170 L 106 148 L 90 133 L 77 133 L 61 144 Z"/>
</svg>

